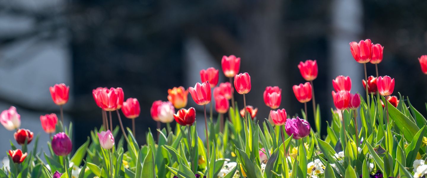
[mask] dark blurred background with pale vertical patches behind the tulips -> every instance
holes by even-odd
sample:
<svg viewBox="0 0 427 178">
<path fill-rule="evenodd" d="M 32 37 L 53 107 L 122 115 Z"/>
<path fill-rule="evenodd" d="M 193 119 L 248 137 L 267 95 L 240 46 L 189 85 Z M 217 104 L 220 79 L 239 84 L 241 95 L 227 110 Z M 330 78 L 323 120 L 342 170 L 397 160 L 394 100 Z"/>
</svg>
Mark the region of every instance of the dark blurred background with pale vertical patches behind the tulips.
<svg viewBox="0 0 427 178">
<path fill-rule="evenodd" d="M 145 144 L 148 128 L 156 125 L 149 112 L 152 102 L 166 101 L 169 88 L 194 86 L 199 71 L 208 67 L 219 69 L 219 82 L 225 82 L 223 55 L 240 57 L 240 72 L 251 75 L 247 103 L 258 108 L 258 119 L 268 118 L 266 86 L 282 88 L 280 108 L 288 115 L 301 113 L 304 105 L 295 99 L 292 85 L 305 82 L 299 61 L 313 59 L 319 65 L 314 89 L 325 133 L 333 107 L 332 79 L 350 76 L 352 93 L 365 95 L 363 65 L 353 59 L 349 42 L 370 38 L 384 46 L 379 73 L 395 78 L 393 94 L 409 96 L 427 114 L 427 76 L 417 60 L 427 54 L 426 7 L 424 0 L 3 0 L 0 110 L 15 106 L 21 127 L 40 134 L 39 145 L 46 148 L 48 135 L 39 117 L 59 115 L 48 88 L 69 85 L 64 112 L 73 122 L 76 148 L 102 123 L 92 89 L 121 87 L 125 99 L 140 102 L 137 141 Z M 375 75 L 373 64 L 368 75 Z M 235 93 L 235 99 L 241 108 L 243 96 Z M 198 111 L 203 129 L 202 107 L 190 95 L 188 103 Z M 117 116 L 113 119 L 118 124 Z M 131 120 L 123 122 L 131 126 Z M 15 143 L 13 132 L 1 127 L 0 134 L 1 155 L 6 155 L 9 140 Z"/>
</svg>

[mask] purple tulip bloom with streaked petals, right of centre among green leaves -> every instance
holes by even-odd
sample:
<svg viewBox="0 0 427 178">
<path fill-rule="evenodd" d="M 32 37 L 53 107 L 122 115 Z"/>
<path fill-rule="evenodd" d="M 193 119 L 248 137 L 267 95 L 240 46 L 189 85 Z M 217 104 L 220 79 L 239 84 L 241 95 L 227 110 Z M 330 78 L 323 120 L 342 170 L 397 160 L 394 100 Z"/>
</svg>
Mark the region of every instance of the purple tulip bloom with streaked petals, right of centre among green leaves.
<svg viewBox="0 0 427 178">
<path fill-rule="evenodd" d="M 293 139 L 300 139 L 307 137 L 310 134 L 310 123 L 307 120 L 300 119 L 299 117 L 287 119 L 285 125 L 286 133 Z"/>
</svg>

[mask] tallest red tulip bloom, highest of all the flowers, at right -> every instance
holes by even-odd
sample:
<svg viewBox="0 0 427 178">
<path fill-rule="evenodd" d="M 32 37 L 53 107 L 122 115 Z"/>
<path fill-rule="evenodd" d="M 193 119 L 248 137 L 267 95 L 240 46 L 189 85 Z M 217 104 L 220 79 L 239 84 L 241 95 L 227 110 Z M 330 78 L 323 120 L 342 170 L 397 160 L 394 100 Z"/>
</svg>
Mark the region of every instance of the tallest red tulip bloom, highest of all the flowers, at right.
<svg viewBox="0 0 427 178">
<path fill-rule="evenodd" d="M 358 63 L 367 63 L 372 58 L 372 42 L 370 39 L 360 40 L 359 43 L 353 41 L 350 43 L 350 51 Z"/>
</svg>

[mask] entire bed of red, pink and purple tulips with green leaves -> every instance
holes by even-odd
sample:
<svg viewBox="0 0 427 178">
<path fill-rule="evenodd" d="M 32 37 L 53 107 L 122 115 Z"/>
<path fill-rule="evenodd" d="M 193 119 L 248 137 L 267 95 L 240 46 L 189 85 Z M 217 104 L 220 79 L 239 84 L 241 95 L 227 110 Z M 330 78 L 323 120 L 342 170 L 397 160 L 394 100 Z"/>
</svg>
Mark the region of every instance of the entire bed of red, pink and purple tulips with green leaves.
<svg viewBox="0 0 427 178">
<path fill-rule="evenodd" d="M 13 136 L 21 149 L 11 142 L 12 149 L 7 152 L 10 163 L 0 169 L 0 177 L 425 177 L 427 120 L 409 99 L 406 99 L 407 105 L 400 93 L 399 98 L 391 96 L 395 79 L 378 75 L 377 65 L 383 60 L 380 44 L 373 44 L 369 39 L 351 42 L 350 52 L 364 65 L 362 83 L 366 99 L 359 93 L 351 93 L 349 76 L 333 79 L 331 93 L 336 110 L 332 111 L 333 119 L 326 122 L 327 134 L 320 133 L 322 120 L 315 101 L 316 60 L 298 64 L 306 82 L 292 86 L 296 100 L 304 103 L 301 115 L 290 117 L 280 108 L 281 88 L 267 86 L 263 100 L 271 111 L 265 120 L 258 120 L 257 108 L 246 105 L 246 94 L 252 87 L 251 77 L 248 73 L 240 73 L 241 59 L 230 55 L 223 56 L 221 61 L 228 82 L 219 83 L 219 70 L 210 67 L 200 71 L 201 83 L 188 89 L 182 86 L 169 89 L 168 101 L 152 103 L 150 112 L 158 123 L 157 139 L 150 130 L 146 133 L 146 145 L 140 146 L 135 140 L 139 102 L 135 98 L 125 101 L 122 88 L 99 87 L 92 91 L 96 105 L 101 108 L 102 126 L 91 132 L 91 139 L 74 148 L 72 155 L 72 124 L 64 126 L 62 108 L 68 101 L 69 87 L 65 84 L 50 87 L 53 102 L 60 108 L 61 120 L 54 113 L 40 116 L 41 126 L 50 138 L 50 155 L 44 153 L 47 163 L 40 159 L 37 137 L 32 141 L 34 133 L 20 128 L 20 115 L 15 107 L 10 107 L 0 114 L 0 123 L 9 131 L 16 131 Z M 421 70 L 427 74 L 427 55 L 418 60 Z M 367 75 L 369 62 L 375 64 L 376 76 Z M 234 91 L 243 95 L 241 110 L 234 99 Z M 204 108 L 205 141 L 196 131 L 196 109 L 186 108 L 188 93 Z M 307 122 L 307 102 L 313 104 L 316 131 Z M 216 122 L 213 109 L 218 114 Z M 125 129 L 119 110 L 132 120 L 132 129 Z M 116 111 L 119 126 L 113 125 L 113 111 Z M 174 120 L 175 130 L 171 127 Z M 161 123 L 166 123 L 166 128 L 161 128 Z M 119 129 L 123 136 L 115 140 Z M 32 152 L 28 152 L 29 143 L 34 143 Z"/>
</svg>

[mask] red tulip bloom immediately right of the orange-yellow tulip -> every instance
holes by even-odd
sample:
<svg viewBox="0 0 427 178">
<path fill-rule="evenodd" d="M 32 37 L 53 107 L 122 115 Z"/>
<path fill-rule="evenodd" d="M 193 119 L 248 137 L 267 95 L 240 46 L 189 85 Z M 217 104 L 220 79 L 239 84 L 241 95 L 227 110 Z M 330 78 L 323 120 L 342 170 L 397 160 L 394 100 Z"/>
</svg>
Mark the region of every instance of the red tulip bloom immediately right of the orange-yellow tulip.
<svg viewBox="0 0 427 178">
<path fill-rule="evenodd" d="M 198 105 L 207 105 L 211 102 L 211 84 L 209 84 L 209 81 L 202 84 L 196 83 L 194 88 L 190 87 L 188 91 Z"/>
</svg>

